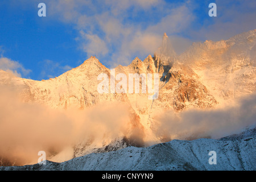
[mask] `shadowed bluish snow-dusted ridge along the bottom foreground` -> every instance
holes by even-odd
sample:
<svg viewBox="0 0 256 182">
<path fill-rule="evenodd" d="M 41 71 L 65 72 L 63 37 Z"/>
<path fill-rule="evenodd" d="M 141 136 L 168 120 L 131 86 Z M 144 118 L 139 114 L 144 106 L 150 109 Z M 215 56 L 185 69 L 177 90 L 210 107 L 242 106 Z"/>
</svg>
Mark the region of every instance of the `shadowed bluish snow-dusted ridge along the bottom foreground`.
<svg viewBox="0 0 256 182">
<path fill-rule="evenodd" d="M 89 154 L 63 163 L 47 161 L 0 170 L 255 170 L 256 128 L 221 139 L 172 140 L 147 148 Z M 217 164 L 209 164 L 216 151 Z"/>
</svg>

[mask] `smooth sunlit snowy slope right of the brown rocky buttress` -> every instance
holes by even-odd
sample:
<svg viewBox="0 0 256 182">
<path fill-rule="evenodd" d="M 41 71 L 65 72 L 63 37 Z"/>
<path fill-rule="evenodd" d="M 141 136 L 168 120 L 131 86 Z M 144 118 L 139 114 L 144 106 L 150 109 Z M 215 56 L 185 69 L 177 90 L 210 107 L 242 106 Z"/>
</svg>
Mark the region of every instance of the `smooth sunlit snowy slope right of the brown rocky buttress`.
<svg viewBox="0 0 256 182">
<path fill-rule="evenodd" d="M 255 91 L 256 30 L 228 40 L 193 43 L 179 56 L 220 105 Z"/>
</svg>

